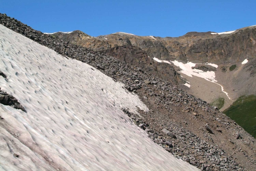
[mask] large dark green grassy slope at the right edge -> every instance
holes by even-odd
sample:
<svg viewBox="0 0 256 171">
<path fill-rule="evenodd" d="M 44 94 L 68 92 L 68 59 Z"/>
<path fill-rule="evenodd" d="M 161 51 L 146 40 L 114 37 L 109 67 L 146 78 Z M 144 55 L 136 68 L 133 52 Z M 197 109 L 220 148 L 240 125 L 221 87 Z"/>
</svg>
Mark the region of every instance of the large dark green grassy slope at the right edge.
<svg viewBox="0 0 256 171">
<path fill-rule="evenodd" d="M 256 138 L 256 96 L 241 96 L 223 111 Z"/>
</svg>

